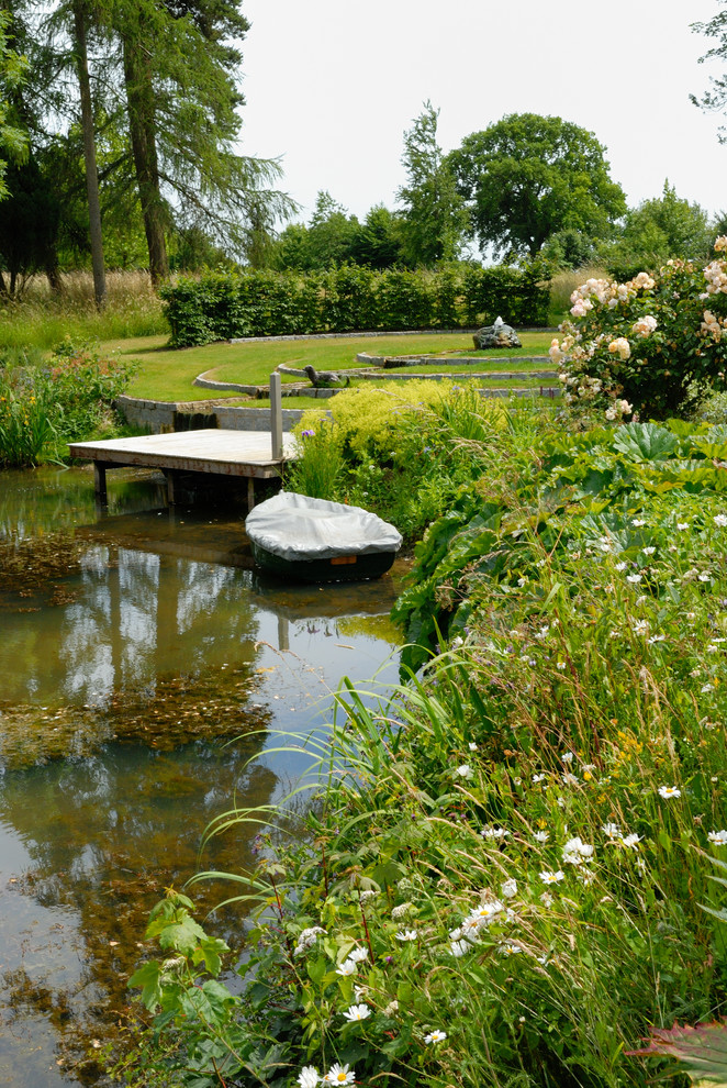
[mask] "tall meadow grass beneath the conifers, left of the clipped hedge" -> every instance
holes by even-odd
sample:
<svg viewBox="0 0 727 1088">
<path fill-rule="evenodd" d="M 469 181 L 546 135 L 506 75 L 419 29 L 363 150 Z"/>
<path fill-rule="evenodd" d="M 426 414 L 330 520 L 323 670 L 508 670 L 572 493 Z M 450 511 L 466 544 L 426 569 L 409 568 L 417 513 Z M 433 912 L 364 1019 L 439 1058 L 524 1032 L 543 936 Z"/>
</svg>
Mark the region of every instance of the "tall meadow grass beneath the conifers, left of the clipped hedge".
<svg viewBox="0 0 727 1088">
<path fill-rule="evenodd" d="M 102 341 L 169 331 L 147 273 L 108 273 L 107 288 L 107 306 L 98 311 L 90 273 L 65 275 L 57 296 L 44 278 L 35 277 L 22 299 L 0 304 L 0 348 L 33 346 L 46 351 L 65 336 Z"/>
</svg>

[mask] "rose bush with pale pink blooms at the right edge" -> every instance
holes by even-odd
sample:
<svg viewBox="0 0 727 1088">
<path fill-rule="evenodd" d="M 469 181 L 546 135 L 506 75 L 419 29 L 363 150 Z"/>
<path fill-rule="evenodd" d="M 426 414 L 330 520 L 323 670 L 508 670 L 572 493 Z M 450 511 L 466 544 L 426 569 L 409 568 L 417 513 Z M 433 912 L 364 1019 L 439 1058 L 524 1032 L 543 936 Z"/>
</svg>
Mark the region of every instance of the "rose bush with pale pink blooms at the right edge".
<svg viewBox="0 0 727 1088">
<path fill-rule="evenodd" d="M 567 403 L 666 418 L 727 388 L 727 235 L 706 267 L 669 260 L 626 284 L 589 279 L 550 346 Z"/>
</svg>

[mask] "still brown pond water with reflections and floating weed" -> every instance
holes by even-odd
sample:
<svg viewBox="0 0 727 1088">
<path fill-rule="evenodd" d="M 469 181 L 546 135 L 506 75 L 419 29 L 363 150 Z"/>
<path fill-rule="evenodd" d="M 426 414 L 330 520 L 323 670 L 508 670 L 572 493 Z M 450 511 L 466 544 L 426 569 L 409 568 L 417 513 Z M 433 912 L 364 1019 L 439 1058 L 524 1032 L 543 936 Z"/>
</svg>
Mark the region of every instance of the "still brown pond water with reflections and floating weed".
<svg viewBox="0 0 727 1088">
<path fill-rule="evenodd" d="M 102 512 L 87 469 L 0 474 L 0 1085 L 102 1083 L 150 907 L 253 864 L 245 830 L 200 856 L 208 822 L 289 792 L 342 676 L 396 678 L 398 567 L 264 579 L 235 501 L 172 512 L 119 470 Z M 239 946 L 238 910 L 209 924 Z"/>
</svg>

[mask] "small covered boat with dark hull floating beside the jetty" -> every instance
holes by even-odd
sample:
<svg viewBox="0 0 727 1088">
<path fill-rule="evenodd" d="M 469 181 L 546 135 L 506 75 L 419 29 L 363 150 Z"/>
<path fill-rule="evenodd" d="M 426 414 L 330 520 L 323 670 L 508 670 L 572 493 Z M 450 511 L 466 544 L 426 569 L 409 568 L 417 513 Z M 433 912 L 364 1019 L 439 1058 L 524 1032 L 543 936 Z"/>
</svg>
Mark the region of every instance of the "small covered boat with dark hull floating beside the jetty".
<svg viewBox="0 0 727 1088">
<path fill-rule="evenodd" d="M 247 515 L 253 558 L 262 570 L 299 581 L 359 581 L 391 567 L 399 530 L 361 507 L 279 491 Z"/>
</svg>

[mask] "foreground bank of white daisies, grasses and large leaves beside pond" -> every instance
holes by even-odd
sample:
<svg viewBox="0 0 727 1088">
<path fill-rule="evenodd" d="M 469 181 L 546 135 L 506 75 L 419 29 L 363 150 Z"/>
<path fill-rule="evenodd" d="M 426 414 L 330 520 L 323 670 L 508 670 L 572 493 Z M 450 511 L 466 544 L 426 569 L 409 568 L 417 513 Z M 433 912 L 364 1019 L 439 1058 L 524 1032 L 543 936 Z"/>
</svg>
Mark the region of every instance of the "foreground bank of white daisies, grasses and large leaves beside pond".
<svg viewBox="0 0 727 1088">
<path fill-rule="evenodd" d="M 399 421 L 393 448 L 438 436 L 430 476 L 469 464 L 410 590 L 451 641 L 383 698 L 342 682 L 309 741 L 307 837 L 267 809 L 209 829 L 276 825 L 227 874 L 257 912 L 239 1003 L 224 1020 L 220 992 L 214 1023 L 192 1007 L 214 964 L 181 992 L 147 968 L 156 1034 L 130 1083 L 167 1062 L 212 1088 L 225 1063 L 228 1083 L 293 1088 L 338 1063 L 339 1083 L 646 1088 L 629 1052 L 652 1029 L 714 1075 L 717 1032 L 695 1054 L 671 1025 L 727 999 L 705 866 L 727 846 L 727 429 L 494 425 L 455 391 Z M 374 470 L 388 437 L 357 442 Z"/>
</svg>

